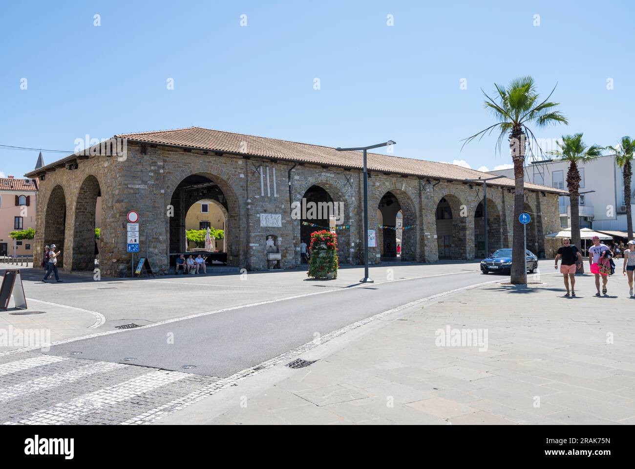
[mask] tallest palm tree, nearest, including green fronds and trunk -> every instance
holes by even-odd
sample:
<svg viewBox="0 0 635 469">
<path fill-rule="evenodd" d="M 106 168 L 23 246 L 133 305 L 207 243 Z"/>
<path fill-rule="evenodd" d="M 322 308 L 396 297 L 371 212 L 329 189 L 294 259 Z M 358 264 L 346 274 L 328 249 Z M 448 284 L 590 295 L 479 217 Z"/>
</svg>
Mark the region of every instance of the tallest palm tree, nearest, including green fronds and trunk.
<svg viewBox="0 0 635 469">
<path fill-rule="evenodd" d="M 483 138 L 485 133 L 491 133 L 493 130 L 500 130 L 496 147 L 500 151 L 500 146 L 505 136 L 509 141 L 509 149 L 514 162 L 514 179 L 516 179 L 516 188 L 514 189 L 514 219 L 518 220 L 520 214 L 525 208 L 524 194 L 524 170 L 525 170 L 525 153 L 526 139 L 537 144 L 533 132 L 528 125 L 537 127 L 545 127 L 555 125 L 557 123 L 567 123 L 565 116 L 556 110 L 559 103 L 550 102 L 553 90 L 547 96 L 547 99 L 538 101 L 538 93 L 536 92 L 535 83 L 530 76 L 516 78 L 509 83 L 509 86 L 496 85 L 498 96 L 496 100 L 491 99 L 485 92 L 486 97 L 485 109 L 489 109 L 497 123 L 490 125 L 485 130 L 475 133 L 471 137 L 464 140 L 465 144 L 479 137 Z M 556 88 L 554 87 L 554 90 Z M 537 145 L 538 150 L 540 147 Z M 530 147 L 531 151 L 531 147 Z M 526 282 L 524 271 L 525 259 L 525 241 L 523 239 L 523 226 L 519 222 L 514 222 L 514 238 L 512 241 L 512 257 L 517 259 L 512 263 L 511 283 L 516 285 Z"/>
</svg>

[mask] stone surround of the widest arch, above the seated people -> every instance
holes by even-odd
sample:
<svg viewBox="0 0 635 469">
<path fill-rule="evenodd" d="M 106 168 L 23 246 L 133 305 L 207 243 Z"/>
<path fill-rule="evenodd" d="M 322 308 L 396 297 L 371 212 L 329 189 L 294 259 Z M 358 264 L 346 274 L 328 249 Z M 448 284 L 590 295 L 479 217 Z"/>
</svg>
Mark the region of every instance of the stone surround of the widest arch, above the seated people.
<svg viewBox="0 0 635 469">
<path fill-rule="evenodd" d="M 220 189 L 220 193 L 222 195 L 222 201 L 220 201 L 220 203 L 224 206 L 227 212 L 227 215 L 225 216 L 227 236 L 225 236 L 224 242 L 225 251 L 227 252 L 227 264 L 231 266 L 244 267 L 241 264 L 241 262 L 243 262 L 242 253 L 244 250 L 244 243 L 241 243 L 244 216 L 241 212 L 242 207 L 239 197 L 236 194 L 236 189 L 239 187 L 239 184 L 237 183 L 235 177 L 224 170 L 220 170 L 219 168 L 218 171 L 211 173 L 209 171 L 209 167 L 209 164 L 201 162 L 199 165 L 190 165 L 182 170 L 174 172 L 168 180 L 164 192 L 166 206 L 173 205 L 172 202 L 175 193 L 177 190 L 180 190 L 180 184 L 182 184 L 182 182 L 184 182 L 187 178 L 194 176 L 213 182 L 215 186 L 218 186 L 218 189 Z M 218 194 L 214 195 L 218 196 Z M 166 221 L 165 248 L 168 259 L 171 252 L 171 246 L 175 245 L 174 237 L 180 236 L 181 231 L 184 231 L 185 214 L 187 214 L 187 209 L 191 205 L 192 204 L 190 203 L 188 207 L 180 207 L 180 205 L 177 204 L 177 206 L 173 207 L 174 216 L 168 217 L 168 220 Z M 183 247 L 185 247 L 184 239 L 178 242 L 182 243 Z"/>
</svg>

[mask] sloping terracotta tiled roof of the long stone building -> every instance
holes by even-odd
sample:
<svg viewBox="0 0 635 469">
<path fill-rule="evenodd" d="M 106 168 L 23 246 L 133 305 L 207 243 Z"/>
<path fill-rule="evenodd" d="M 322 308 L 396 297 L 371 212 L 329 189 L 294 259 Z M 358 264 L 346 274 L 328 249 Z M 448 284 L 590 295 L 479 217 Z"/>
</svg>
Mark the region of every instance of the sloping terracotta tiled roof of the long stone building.
<svg viewBox="0 0 635 469">
<path fill-rule="evenodd" d="M 117 138 L 135 142 L 188 147 L 207 151 L 260 156 L 298 163 L 313 163 L 333 167 L 361 169 L 362 154 L 359 151 L 337 151 L 333 147 L 290 142 L 288 140 L 256 137 L 243 133 L 222 132 L 201 127 L 159 130 L 156 132 L 121 133 Z M 55 163 L 58 163 L 57 161 Z M 51 163 L 54 165 L 55 163 Z M 50 167 L 48 165 L 44 168 Z M 41 168 L 41 169 L 44 169 Z M 463 168 L 449 163 L 400 158 L 384 154 L 368 153 L 368 169 L 373 172 L 397 173 L 446 180 L 485 179 L 491 174 Z M 503 187 L 514 187 L 514 180 L 502 178 L 490 184 Z M 525 187 L 552 193 L 563 193 L 553 187 L 540 186 L 525 182 Z"/>
</svg>

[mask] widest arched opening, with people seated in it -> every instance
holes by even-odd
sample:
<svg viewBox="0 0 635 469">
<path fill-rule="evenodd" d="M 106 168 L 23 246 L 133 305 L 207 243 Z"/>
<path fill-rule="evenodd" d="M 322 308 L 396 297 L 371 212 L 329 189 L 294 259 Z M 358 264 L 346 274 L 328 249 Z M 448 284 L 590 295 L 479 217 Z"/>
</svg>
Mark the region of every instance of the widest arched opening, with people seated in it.
<svg viewBox="0 0 635 469">
<path fill-rule="evenodd" d="M 203 212 L 205 204 L 208 210 L 206 214 Z M 189 175 L 175 188 L 170 205 L 173 208 L 170 217 L 170 266 L 174 266 L 179 254 L 205 250 L 204 240 L 199 241 L 199 243 L 187 240 L 187 229 L 203 229 L 201 222 L 209 222 L 210 228 L 224 231 L 223 242 L 218 243 L 217 246 L 222 247 L 222 250 L 218 249 L 221 254 L 228 252 L 231 241 L 227 238 L 227 231 L 229 231 L 228 228 L 231 229 L 228 226 L 231 211 L 229 210 L 229 201 L 218 182 L 204 174 Z M 189 219 L 191 228 L 186 222 L 190 210 L 192 214 L 198 212 L 198 218 L 192 216 Z M 220 226 L 215 226 L 215 224 Z M 206 227 L 206 224 L 204 226 Z M 224 255 L 210 255 L 207 264 L 209 266 L 213 263 L 221 263 L 224 262 L 224 259 L 226 259 Z"/>
</svg>

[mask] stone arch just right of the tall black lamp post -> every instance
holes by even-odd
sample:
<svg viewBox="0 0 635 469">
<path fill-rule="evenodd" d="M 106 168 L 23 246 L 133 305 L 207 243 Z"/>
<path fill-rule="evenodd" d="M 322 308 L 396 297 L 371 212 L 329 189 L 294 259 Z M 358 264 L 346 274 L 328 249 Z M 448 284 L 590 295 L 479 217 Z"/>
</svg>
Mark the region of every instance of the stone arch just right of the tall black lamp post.
<svg viewBox="0 0 635 469">
<path fill-rule="evenodd" d="M 394 199 L 390 196 L 391 194 Z M 397 210 L 385 210 L 386 207 L 381 207 L 382 203 L 385 204 L 391 200 L 398 202 L 399 207 Z M 373 205 L 369 203 L 368 210 L 371 214 L 375 214 L 377 221 L 374 224 L 369 222 L 368 228 L 377 229 L 377 249 L 378 254 L 382 255 L 382 257 L 396 257 L 396 247 L 398 245 L 396 240 L 401 239 L 401 260 L 417 261 L 417 253 L 420 252 L 418 233 L 420 233 L 421 227 L 418 224 L 416 207 L 413 198 L 408 194 L 404 186 L 399 188 L 393 185 L 392 187 L 388 187 L 384 193 L 380 194 L 377 192 L 375 194 Z M 401 210 L 402 214 L 403 228 L 408 228 L 401 229 L 400 233 L 398 233 L 396 229 L 391 229 L 396 223 L 396 214 L 399 210 Z M 382 217 L 381 222 L 379 219 L 380 216 Z M 385 216 L 388 216 L 389 219 L 384 219 Z M 369 219 L 372 218 L 373 217 L 369 217 Z M 391 228 L 378 228 L 380 224 Z M 401 235 L 401 238 L 399 238 L 398 235 Z"/>
</svg>

